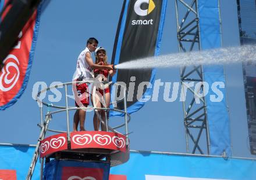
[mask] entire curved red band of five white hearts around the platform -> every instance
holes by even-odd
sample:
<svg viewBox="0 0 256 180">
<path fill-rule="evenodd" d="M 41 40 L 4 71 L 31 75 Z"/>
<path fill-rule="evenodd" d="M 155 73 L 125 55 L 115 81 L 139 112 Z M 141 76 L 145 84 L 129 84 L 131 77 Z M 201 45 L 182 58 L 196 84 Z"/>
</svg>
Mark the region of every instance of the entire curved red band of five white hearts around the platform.
<svg viewBox="0 0 256 180">
<path fill-rule="evenodd" d="M 126 137 L 105 131 L 80 131 L 70 133 L 71 149 L 100 148 L 126 152 Z M 40 144 L 40 157 L 67 149 L 67 134 L 45 138 Z"/>
</svg>

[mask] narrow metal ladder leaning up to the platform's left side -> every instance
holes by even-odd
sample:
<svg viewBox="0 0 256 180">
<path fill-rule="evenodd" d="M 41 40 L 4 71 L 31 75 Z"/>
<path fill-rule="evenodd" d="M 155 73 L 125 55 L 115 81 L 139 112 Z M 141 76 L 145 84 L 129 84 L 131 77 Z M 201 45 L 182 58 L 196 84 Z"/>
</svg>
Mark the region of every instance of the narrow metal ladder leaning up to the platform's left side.
<svg viewBox="0 0 256 180">
<path fill-rule="evenodd" d="M 34 169 L 35 169 L 35 164 L 37 164 L 37 159 L 38 159 L 38 156 L 39 156 L 39 153 L 40 153 L 39 152 L 39 150 L 40 150 L 40 142 L 45 137 L 45 134 L 47 132 L 47 128 L 48 128 L 48 125 L 49 125 L 49 121 L 51 119 L 52 119 L 52 116 L 51 115 L 47 115 L 45 117 L 44 124 L 42 124 L 40 136 L 39 136 L 38 141 L 37 141 L 37 146 L 35 147 L 35 152 L 34 152 L 34 155 L 33 155 L 33 158 L 32 158 L 31 164 L 30 164 L 30 167 L 29 167 L 29 172 L 27 172 L 26 180 L 30 180 L 32 178 L 32 175 L 33 175 L 33 172 L 34 172 Z"/>
</svg>

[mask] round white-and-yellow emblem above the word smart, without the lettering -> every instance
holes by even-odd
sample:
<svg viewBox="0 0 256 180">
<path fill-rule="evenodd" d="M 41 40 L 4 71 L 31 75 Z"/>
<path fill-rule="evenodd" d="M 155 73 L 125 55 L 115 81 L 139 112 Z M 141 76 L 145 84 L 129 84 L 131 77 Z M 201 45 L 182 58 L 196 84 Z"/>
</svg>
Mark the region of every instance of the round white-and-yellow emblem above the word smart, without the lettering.
<svg viewBox="0 0 256 180">
<path fill-rule="evenodd" d="M 141 5 L 143 3 L 148 4 L 148 8 L 145 10 L 141 9 Z M 134 11 L 136 12 L 136 14 L 138 14 L 138 16 L 147 16 L 154 9 L 155 9 L 155 3 L 152 0 L 137 0 L 134 4 Z"/>
</svg>

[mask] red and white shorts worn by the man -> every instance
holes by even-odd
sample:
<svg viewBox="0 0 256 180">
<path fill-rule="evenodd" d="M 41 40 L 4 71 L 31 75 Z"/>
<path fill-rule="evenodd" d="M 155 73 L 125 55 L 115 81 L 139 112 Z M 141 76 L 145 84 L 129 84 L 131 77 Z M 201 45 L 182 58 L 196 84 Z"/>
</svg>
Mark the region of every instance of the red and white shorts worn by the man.
<svg viewBox="0 0 256 180">
<path fill-rule="evenodd" d="M 81 104 L 87 106 L 89 104 L 89 93 L 87 83 L 76 83 L 76 89 L 74 90 L 75 104 L 79 108 Z"/>
</svg>

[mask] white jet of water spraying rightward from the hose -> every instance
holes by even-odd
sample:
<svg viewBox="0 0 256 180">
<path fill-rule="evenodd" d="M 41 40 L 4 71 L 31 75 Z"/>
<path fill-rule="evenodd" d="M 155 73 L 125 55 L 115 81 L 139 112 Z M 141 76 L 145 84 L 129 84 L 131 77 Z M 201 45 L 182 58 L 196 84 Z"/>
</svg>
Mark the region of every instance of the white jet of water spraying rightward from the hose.
<svg viewBox="0 0 256 180">
<path fill-rule="evenodd" d="M 227 47 L 198 52 L 141 58 L 116 65 L 117 69 L 184 67 L 189 65 L 230 64 L 256 61 L 256 46 Z"/>
</svg>

